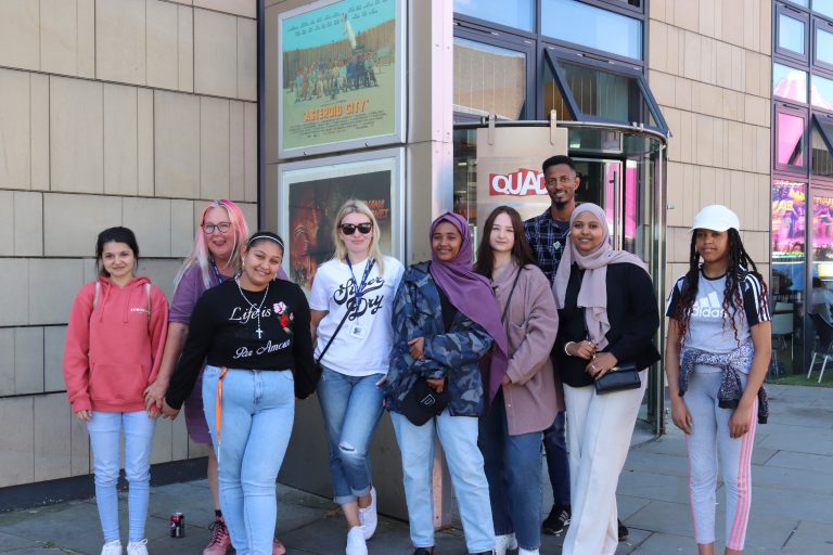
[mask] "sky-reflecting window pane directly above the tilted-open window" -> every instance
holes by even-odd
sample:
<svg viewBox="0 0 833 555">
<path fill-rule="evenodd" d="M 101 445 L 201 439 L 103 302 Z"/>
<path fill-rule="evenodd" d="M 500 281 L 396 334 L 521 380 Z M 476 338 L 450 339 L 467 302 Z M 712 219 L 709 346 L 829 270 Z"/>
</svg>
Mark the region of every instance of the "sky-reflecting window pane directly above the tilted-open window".
<svg viewBox="0 0 833 555">
<path fill-rule="evenodd" d="M 542 0 L 541 33 L 559 40 L 642 60 L 642 22 L 576 0 Z"/>
</svg>

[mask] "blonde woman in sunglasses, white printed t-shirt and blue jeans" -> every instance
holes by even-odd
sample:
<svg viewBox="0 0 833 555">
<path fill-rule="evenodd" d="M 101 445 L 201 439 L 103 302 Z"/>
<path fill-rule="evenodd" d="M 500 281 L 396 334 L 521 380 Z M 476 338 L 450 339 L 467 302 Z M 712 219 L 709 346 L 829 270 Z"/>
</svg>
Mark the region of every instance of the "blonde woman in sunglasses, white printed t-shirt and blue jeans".
<svg viewBox="0 0 833 555">
<path fill-rule="evenodd" d="M 403 268 L 383 257 L 373 212 L 349 199 L 333 227 L 335 256 L 318 269 L 309 306 L 321 357 L 318 398 L 330 440 L 335 502 L 347 519 L 347 555 L 367 555 L 376 529 L 376 492 L 368 448 L 382 416 L 393 345 L 394 295 Z"/>
</svg>

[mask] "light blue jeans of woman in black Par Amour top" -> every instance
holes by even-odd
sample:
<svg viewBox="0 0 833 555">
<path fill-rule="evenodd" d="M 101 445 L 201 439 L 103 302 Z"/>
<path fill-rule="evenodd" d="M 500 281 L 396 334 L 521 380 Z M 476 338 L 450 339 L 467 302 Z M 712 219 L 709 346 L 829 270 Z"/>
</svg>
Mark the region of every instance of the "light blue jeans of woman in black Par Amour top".
<svg viewBox="0 0 833 555">
<path fill-rule="evenodd" d="M 229 370 L 222 378 L 221 440 L 215 402 L 220 369 L 206 366 L 203 408 L 219 462 L 220 507 L 239 555 L 271 555 L 274 481 L 290 443 L 295 387 L 289 370 Z"/>
</svg>

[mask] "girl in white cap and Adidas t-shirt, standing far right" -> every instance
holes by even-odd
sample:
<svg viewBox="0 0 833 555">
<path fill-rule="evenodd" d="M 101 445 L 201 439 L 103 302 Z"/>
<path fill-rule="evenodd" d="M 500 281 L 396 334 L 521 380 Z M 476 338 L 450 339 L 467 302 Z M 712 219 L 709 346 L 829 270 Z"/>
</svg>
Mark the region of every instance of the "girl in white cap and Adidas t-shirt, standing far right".
<svg viewBox="0 0 833 555">
<path fill-rule="evenodd" d="M 700 555 L 715 553 L 718 451 L 726 490 L 725 553 L 743 551 L 755 425 L 765 424 L 768 413 L 761 387 L 772 348 L 767 286 L 739 229 L 738 216 L 726 206 L 697 212 L 689 271 L 675 284 L 666 310 L 665 372 L 674 424 L 685 433 Z"/>
</svg>

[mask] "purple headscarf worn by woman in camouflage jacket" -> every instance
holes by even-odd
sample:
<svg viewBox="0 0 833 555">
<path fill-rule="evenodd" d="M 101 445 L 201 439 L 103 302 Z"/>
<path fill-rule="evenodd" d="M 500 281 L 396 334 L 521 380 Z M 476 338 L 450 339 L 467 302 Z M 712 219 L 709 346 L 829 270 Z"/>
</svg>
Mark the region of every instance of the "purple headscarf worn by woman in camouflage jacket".
<svg viewBox="0 0 833 555">
<path fill-rule="evenodd" d="M 437 286 L 448 296 L 448 300 L 460 312 L 479 324 L 495 339 L 495 346 L 487 357 L 480 361 L 480 374 L 483 375 L 484 389 L 487 390 L 486 408 L 488 410 L 491 400 L 500 389 L 500 383 L 507 374 L 509 352 L 507 333 L 500 322 L 500 308 L 491 291 L 489 280 L 472 270 L 472 235 L 469 231 L 469 222 L 460 215 L 446 212 L 439 216 L 431 224 L 431 237 L 441 222 L 451 223 L 463 242 L 460 250 L 450 262 L 444 262 L 432 249 L 431 276 Z"/>
</svg>

